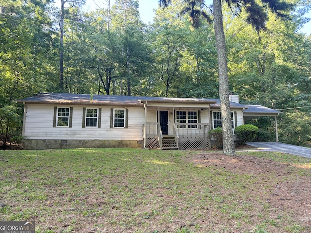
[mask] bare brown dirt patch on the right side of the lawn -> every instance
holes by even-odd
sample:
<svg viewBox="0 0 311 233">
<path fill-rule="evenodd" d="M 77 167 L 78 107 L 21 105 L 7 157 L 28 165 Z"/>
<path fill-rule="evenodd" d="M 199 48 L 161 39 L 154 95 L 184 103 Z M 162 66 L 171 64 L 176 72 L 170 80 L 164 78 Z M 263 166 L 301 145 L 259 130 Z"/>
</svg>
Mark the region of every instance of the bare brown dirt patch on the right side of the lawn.
<svg viewBox="0 0 311 233">
<path fill-rule="evenodd" d="M 268 152 L 267 152 L 268 153 Z M 310 171 L 310 166 L 297 166 L 289 163 L 279 163 L 264 157 L 225 156 L 221 153 L 200 153 L 191 158 L 197 166 L 222 168 L 230 173 L 248 174 L 260 177 L 261 186 L 270 187 L 265 192 L 260 189 L 252 190 L 260 193 L 266 203 L 276 210 L 293 213 L 295 221 L 306 226 L 311 231 L 311 182 L 310 176 L 298 176 L 279 183 L 270 177 L 288 177 L 295 168 Z M 308 172 L 310 173 L 310 172 Z M 282 180 L 282 179 L 281 179 Z M 247 183 L 245 183 L 247 185 Z M 249 200 L 252 202 L 253 200 Z M 254 200 L 255 201 L 255 200 Z M 273 217 L 273 216 L 272 216 Z M 275 218 L 281 216 L 274 216 Z M 309 231 L 306 231 L 309 232 Z"/>
</svg>

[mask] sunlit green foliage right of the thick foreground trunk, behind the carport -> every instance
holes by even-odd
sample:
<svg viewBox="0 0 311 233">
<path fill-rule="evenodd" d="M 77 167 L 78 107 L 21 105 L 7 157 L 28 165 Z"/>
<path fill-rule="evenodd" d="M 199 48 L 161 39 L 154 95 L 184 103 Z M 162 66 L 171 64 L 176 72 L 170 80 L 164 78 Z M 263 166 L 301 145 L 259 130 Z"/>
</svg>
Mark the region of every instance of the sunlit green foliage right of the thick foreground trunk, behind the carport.
<svg viewBox="0 0 311 233">
<path fill-rule="evenodd" d="M 245 22 L 230 18 L 230 9 L 227 8 L 227 12 L 226 23 L 231 25 L 226 31 L 229 79 L 234 91 L 244 103 L 262 104 L 281 111 L 296 108 L 295 111 L 284 110 L 278 117 L 282 135 L 279 138 L 282 142 L 307 143 L 310 134 L 302 129 L 307 129 L 303 125 L 308 125 L 310 109 L 300 107 L 311 105 L 310 38 L 297 33 L 299 20 L 296 17 L 285 21 L 270 12 L 266 31 L 254 33 Z M 301 116 L 307 121 L 298 127 Z M 258 140 L 269 140 L 274 131 L 271 128 L 273 119 L 269 120 L 270 127 L 266 120 L 252 122 L 259 127 Z"/>
</svg>

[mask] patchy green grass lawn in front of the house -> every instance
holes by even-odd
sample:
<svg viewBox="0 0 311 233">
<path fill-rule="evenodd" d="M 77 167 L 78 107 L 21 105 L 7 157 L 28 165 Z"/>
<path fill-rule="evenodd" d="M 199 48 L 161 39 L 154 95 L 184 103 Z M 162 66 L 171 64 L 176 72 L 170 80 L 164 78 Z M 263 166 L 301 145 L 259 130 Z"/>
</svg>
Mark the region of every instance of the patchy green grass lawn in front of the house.
<svg viewBox="0 0 311 233">
<path fill-rule="evenodd" d="M 268 203 L 276 183 L 311 177 L 311 159 L 243 156 L 288 164 L 284 176 L 199 166 L 209 151 L 68 149 L 1 151 L 0 219 L 34 220 L 37 233 L 304 233 L 291 210 Z M 212 153 L 212 152 L 211 152 Z"/>
</svg>

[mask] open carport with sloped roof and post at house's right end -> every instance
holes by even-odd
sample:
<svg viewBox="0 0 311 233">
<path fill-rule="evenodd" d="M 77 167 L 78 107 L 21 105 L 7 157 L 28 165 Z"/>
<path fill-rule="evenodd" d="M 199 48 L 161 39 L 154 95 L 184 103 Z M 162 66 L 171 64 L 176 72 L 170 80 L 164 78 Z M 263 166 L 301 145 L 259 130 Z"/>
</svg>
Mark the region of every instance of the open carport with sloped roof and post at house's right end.
<svg viewBox="0 0 311 233">
<path fill-rule="evenodd" d="M 276 142 L 278 142 L 278 133 L 277 133 L 277 116 L 282 112 L 264 107 L 262 105 L 245 105 L 247 108 L 243 111 L 244 122 L 252 119 L 256 119 L 263 116 L 272 116 L 274 117 L 275 131 L 276 131 Z"/>
</svg>

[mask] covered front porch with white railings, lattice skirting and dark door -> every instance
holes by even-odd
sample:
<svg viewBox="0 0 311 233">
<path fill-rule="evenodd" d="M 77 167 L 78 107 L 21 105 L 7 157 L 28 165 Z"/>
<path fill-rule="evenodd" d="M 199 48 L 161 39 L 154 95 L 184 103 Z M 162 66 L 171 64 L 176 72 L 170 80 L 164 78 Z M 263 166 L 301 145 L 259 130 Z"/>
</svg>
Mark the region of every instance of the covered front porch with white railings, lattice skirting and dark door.
<svg viewBox="0 0 311 233">
<path fill-rule="evenodd" d="M 210 149 L 210 104 L 213 100 L 162 98 L 141 101 L 145 148 Z"/>
</svg>

